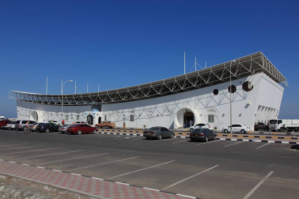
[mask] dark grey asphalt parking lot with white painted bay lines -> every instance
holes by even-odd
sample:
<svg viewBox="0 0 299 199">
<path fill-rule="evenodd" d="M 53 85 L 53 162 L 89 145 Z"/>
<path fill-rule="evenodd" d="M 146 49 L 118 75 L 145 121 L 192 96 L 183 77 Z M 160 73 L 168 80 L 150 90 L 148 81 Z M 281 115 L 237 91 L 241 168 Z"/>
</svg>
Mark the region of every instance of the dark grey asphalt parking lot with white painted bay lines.
<svg viewBox="0 0 299 199">
<path fill-rule="evenodd" d="M 297 198 L 299 145 L 0 130 L 0 159 L 199 198 Z"/>
</svg>

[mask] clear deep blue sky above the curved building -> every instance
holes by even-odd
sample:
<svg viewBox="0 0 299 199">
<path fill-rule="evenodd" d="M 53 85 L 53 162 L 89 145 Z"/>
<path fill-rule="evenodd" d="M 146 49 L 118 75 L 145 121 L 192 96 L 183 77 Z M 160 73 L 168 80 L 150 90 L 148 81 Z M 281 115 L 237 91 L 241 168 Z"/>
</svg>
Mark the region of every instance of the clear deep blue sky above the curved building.
<svg viewBox="0 0 299 199">
<path fill-rule="evenodd" d="M 0 115 L 9 90 L 109 90 L 262 51 L 287 78 L 280 118 L 299 118 L 298 1 L 1 1 Z M 74 82 L 64 93 L 74 93 Z M 260 96 L 260 97 L 275 97 Z"/>
</svg>

